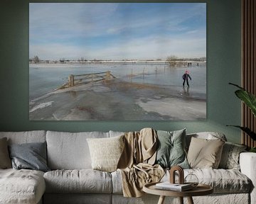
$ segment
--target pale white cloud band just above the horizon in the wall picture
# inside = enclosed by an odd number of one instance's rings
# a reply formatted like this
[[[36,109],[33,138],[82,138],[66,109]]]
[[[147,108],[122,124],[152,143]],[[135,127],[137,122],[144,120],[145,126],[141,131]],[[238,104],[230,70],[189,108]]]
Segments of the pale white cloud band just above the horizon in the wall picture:
[[[151,36],[134,40],[117,40],[111,46],[99,49],[90,46],[74,46],[63,44],[31,45],[30,57],[38,55],[43,60],[59,60],[66,58],[77,60],[85,57],[87,60],[123,60],[123,59],[166,59],[169,55],[177,57],[205,57],[206,38],[170,39],[168,36]]]

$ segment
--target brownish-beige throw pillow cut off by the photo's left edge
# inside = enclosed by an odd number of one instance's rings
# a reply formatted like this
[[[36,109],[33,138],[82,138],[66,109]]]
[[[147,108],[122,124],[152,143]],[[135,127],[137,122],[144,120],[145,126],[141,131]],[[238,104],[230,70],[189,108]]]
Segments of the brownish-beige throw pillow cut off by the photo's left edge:
[[[0,139],[0,169],[11,168],[11,159],[9,157],[6,137]]]

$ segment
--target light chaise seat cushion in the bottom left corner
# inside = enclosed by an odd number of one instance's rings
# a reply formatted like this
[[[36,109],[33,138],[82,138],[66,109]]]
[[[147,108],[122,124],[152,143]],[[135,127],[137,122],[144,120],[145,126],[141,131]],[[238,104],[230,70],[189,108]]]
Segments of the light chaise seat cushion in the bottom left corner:
[[[38,203],[45,190],[43,171],[0,169],[0,203]]]

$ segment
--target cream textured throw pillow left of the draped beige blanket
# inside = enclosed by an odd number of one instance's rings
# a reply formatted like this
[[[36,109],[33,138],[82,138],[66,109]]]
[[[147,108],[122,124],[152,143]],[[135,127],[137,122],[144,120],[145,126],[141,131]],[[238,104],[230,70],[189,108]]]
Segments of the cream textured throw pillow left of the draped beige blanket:
[[[88,138],[92,169],[112,172],[124,150],[124,135],[110,138]]]

